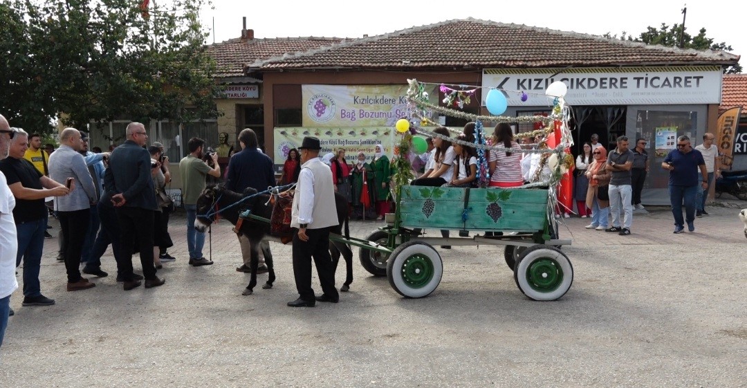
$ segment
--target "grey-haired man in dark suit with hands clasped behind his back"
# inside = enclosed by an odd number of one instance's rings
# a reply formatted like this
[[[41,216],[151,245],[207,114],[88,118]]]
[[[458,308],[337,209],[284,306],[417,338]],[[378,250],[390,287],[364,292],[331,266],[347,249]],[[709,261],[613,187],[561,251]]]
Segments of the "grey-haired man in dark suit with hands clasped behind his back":
[[[165,279],[155,276],[153,265],[153,212],[156,209],[155,188],[151,178],[150,154],[143,146],[148,140],[145,126],[130,123],[127,141],[114,149],[109,157],[109,168],[104,175],[107,194],[117,208],[122,233],[122,259],[120,277],[125,291],[140,286],[132,272],[132,248],[135,235],[140,247],[140,264],[143,265],[145,288],[161,286]]]

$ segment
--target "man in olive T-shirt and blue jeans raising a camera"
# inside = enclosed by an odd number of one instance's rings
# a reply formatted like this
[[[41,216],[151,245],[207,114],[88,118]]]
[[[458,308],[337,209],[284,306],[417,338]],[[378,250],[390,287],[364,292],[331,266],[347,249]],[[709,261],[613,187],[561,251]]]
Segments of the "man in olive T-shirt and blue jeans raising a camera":
[[[182,175],[182,203],[187,211],[187,248],[189,249],[189,264],[211,265],[211,260],[202,256],[202,246],[205,244],[205,233],[194,229],[197,218],[197,198],[205,190],[207,176],[220,177],[220,165],[217,153],[204,153],[205,141],[191,138],[187,141],[189,155],[179,161],[179,172]],[[213,167],[208,166],[207,160],[212,161]]]

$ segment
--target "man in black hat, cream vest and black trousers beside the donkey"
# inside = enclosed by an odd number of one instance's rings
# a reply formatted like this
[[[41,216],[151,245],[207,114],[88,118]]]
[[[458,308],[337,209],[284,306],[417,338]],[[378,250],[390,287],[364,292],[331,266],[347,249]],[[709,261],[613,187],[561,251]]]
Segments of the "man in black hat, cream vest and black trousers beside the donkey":
[[[288,302],[290,307],[314,307],[316,301],[337,303],[335,270],[329,256],[329,227],[338,225],[335,188],[332,170],[319,159],[321,144],[318,138],[303,138],[298,147],[301,153],[301,173],[291,212],[293,235],[293,273],[299,298]],[[323,295],[315,297],[311,289],[311,257]]]

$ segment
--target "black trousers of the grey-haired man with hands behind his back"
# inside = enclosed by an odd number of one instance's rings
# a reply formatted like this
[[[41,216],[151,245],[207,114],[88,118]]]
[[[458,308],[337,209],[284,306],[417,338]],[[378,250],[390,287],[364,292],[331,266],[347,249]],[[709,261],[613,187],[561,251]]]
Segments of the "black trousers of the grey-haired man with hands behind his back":
[[[119,264],[120,275],[125,280],[132,280],[132,252],[134,241],[140,249],[140,264],[143,265],[143,277],[146,280],[155,279],[155,265],[153,265],[153,210],[119,207],[117,219],[120,221],[122,233],[122,262]]]

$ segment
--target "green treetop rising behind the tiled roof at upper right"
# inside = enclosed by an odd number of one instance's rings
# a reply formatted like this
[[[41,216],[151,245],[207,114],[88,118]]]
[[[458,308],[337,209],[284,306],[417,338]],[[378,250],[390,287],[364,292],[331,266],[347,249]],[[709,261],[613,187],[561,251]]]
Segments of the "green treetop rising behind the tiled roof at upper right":
[[[684,32],[684,34],[683,34]],[[609,32],[604,34],[604,37],[611,39],[630,40],[633,42],[640,42],[651,45],[661,45],[669,47],[680,47],[681,49],[695,49],[695,50],[722,50],[730,52],[731,46],[725,42],[713,43],[713,38],[706,37],[705,28],[698,30],[698,34],[692,36],[687,33],[687,28],[682,28],[682,25],[675,23],[671,27],[666,23],[661,23],[659,28],[648,26],[646,31],[643,31],[638,37],[627,34],[622,31],[618,36],[617,34],[612,35]],[[729,66],[724,68],[724,73],[742,73],[742,67],[740,64],[736,66]]]

